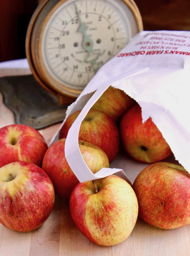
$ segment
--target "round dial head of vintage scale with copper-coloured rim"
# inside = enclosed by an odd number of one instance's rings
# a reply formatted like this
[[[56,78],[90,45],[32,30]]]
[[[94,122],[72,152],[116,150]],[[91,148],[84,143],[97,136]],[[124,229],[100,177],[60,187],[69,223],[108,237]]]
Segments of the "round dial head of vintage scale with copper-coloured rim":
[[[52,105],[55,113],[49,115],[48,122],[42,118],[39,128],[62,121],[67,106],[75,101],[98,69],[142,29],[141,15],[132,0],[42,1],[29,23],[26,57],[37,81],[33,86],[40,84],[46,89],[43,97],[47,95],[46,105],[49,109]],[[37,108],[41,95],[35,95],[35,91],[39,90],[34,89],[31,97],[36,99]],[[52,97],[54,100],[49,101]],[[30,100],[27,102],[30,105]],[[46,114],[45,108],[41,110],[38,117]]]

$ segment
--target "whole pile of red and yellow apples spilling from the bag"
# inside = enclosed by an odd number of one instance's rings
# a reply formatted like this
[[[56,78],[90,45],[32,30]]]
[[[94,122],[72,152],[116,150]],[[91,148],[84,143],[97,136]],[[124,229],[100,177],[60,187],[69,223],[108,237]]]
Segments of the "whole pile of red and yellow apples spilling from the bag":
[[[67,118],[49,148],[32,127],[0,129],[0,222],[22,232],[41,226],[53,209],[55,191],[69,198],[75,225],[98,245],[124,241],[138,215],[159,228],[188,225],[190,175],[180,165],[161,162],[172,154],[169,145],[151,118],[142,123],[140,106],[122,90],[110,86],[82,121],[81,154],[93,173],[109,167],[120,147],[150,165],[132,187],[116,175],[79,183],[64,154],[65,138],[79,113]]]

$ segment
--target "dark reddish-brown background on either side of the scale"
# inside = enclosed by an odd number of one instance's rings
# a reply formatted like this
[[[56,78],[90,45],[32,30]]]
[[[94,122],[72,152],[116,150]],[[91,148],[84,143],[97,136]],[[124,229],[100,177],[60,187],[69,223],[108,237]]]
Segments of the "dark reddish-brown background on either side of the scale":
[[[38,2],[40,0],[0,0],[0,61],[26,57],[26,30]],[[190,30],[190,0],[135,2],[144,30]]]

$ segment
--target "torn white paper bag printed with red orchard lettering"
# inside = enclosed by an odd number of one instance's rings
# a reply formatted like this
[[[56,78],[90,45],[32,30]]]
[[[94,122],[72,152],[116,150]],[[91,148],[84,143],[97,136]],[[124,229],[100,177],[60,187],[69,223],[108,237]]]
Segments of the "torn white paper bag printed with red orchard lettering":
[[[65,141],[65,157],[80,182],[118,172],[125,176],[122,169],[117,169],[119,165],[112,169],[103,168],[93,174],[78,145],[82,120],[110,85],[123,90],[140,105],[143,122],[152,118],[175,159],[187,171],[190,170],[190,118],[185,111],[189,108],[189,68],[189,31],[142,31],[99,69],[77,100],[68,107],[65,118],[66,120],[69,115],[82,109]],[[58,139],[60,129],[52,142]],[[116,161],[112,166],[117,166],[117,163]]]

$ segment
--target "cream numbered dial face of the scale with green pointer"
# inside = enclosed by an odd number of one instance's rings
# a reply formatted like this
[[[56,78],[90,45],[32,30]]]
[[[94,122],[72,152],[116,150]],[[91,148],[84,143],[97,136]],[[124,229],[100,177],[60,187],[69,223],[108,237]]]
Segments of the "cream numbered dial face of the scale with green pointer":
[[[52,78],[59,91],[79,94],[98,69],[138,33],[135,23],[121,0],[58,2],[39,37],[40,61],[50,84]]]

